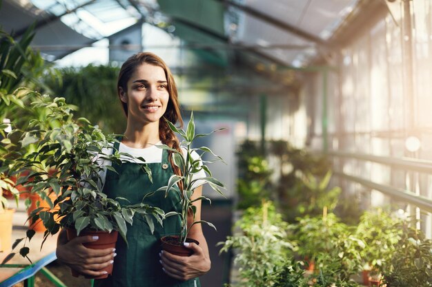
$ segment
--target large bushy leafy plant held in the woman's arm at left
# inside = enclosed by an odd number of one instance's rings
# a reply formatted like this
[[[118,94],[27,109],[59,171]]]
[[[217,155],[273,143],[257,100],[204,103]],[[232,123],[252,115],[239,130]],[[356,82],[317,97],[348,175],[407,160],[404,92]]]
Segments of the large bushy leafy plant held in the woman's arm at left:
[[[107,236],[115,244],[118,232],[126,242],[127,224],[132,224],[135,213],[148,215],[145,218],[150,231],[153,231],[154,222],[162,224],[164,211],[161,209],[143,203],[128,205],[124,198],[108,198],[102,193],[100,174],[104,168],[112,167],[104,167],[100,161],[121,164],[121,156],[130,157],[117,151],[112,154],[106,152],[118,140],[117,136],[104,135],[85,118],[74,120],[72,108],[64,98],[52,100],[48,96],[32,93],[37,100],[29,108],[50,110],[47,117],[52,125],[48,126],[38,118],[30,121],[29,129],[21,133],[21,145],[33,144],[33,151],[22,154],[10,169],[17,172],[28,170],[28,176],[21,178],[21,182],[27,182],[25,186],[31,187],[32,193],[37,193],[50,206],[49,209],[35,209],[29,217],[32,222],[40,219],[46,227],[43,242],[61,228],[67,228],[69,239],[95,232],[99,236],[98,243],[103,242],[103,236]],[[146,164],[142,164],[141,168],[148,171]],[[48,172],[50,170],[55,172]],[[150,173],[148,176],[151,178]],[[28,181],[28,178],[32,180]],[[54,202],[49,193],[57,195]],[[57,204],[59,209],[52,209]],[[28,233],[29,240],[33,234]],[[27,256],[28,252],[25,245],[20,250],[22,256]],[[104,277],[111,270],[112,265]]]

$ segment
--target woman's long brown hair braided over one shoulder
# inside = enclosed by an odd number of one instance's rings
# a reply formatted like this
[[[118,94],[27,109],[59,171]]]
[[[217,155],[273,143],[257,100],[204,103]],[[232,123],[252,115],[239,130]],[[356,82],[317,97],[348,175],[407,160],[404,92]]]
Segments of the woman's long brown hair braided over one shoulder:
[[[175,86],[175,81],[173,74],[171,74],[170,69],[159,56],[150,53],[150,52],[139,52],[137,54],[134,54],[129,57],[129,59],[124,62],[123,65],[121,65],[121,69],[119,72],[119,78],[117,80],[117,94],[120,96],[120,88],[123,89],[124,92],[128,92],[128,81],[130,77],[132,77],[132,74],[137,70],[137,68],[142,64],[150,64],[155,65],[158,67],[161,67],[164,69],[166,81],[167,83],[167,89],[168,94],[170,96],[168,100],[168,106],[166,107],[166,111],[164,114],[164,118],[166,120],[169,120],[171,123],[178,124],[179,127],[183,127],[183,119],[181,118],[180,113],[180,104],[178,100],[178,94],[177,94],[177,87]],[[121,105],[123,105],[124,113],[126,114],[126,117],[128,116],[128,104],[121,102]],[[179,139],[177,136],[175,136],[174,132],[171,131],[170,127],[168,126],[168,123],[166,123],[166,120],[164,118],[161,118],[159,120],[159,138],[161,139],[161,142],[164,145],[168,145],[168,147],[171,147],[173,149],[177,149],[177,151],[181,152]],[[181,175],[180,169],[173,164],[173,157],[171,156],[171,151],[169,152],[169,159],[171,166],[173,167],[174,173],[177,175]]]

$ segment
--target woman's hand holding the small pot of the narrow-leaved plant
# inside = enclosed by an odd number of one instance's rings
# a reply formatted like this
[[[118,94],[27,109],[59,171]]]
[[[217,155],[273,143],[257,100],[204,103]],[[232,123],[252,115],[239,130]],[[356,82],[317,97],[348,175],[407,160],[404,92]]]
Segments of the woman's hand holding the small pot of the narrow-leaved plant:
[[[210,270],[211,265],[210,259],[206,257],[199,245],[189,243],[186,247],[192,249],[193,255],[182,257],[168,253],[167,251],[159,253],[161,257],[160,263],[164,272],[170,275],[170,277],[181,281],[206,274]]]

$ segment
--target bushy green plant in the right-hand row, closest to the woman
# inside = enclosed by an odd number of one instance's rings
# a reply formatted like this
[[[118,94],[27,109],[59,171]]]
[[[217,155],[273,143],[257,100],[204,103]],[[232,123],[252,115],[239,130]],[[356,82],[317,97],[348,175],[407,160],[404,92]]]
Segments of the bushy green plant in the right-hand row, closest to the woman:
[[[290,263],[294,246],[287,240],[288,224],[275,211],[272,202],[264,201],[262,206],[246,209],[235,228],[238,231],[218,245],[222,245],[220,252],[234,249],[234,264],[238,265],[241,278],[239,286],[289,286],[282,285],[286,276],[284,270],[303,274]],[[299,280],[300,277],[296,276]],[[299,281],[293,284],[300,286]]]

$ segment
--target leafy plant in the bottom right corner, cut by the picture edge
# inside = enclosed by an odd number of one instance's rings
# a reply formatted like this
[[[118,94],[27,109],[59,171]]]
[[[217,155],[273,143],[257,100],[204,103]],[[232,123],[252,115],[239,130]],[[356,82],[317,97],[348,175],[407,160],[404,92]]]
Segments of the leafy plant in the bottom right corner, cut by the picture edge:
[[[402,231],[389,271],[384,281],[389,287],[432,286],[432,240],[421,231],[409,226],[409,222],[395,225]]]

